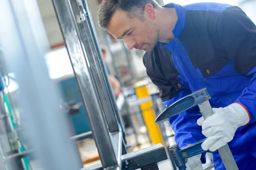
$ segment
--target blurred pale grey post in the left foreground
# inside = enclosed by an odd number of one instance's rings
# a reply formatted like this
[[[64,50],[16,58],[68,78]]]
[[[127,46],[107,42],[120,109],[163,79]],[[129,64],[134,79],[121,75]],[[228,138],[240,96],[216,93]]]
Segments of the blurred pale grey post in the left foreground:
[[[42,168],[79,169],[60,95],[44,61],[49,45],[37,1],[1,0],[0,15],[0,45],[19,85],[18,104],[26,113],[27,133]]]

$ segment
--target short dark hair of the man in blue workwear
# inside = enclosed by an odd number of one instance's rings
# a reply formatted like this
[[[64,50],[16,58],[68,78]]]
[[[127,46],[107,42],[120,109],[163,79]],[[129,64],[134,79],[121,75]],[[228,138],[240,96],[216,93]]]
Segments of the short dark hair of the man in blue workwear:
[[[160,8],[160,5],[155,0],[102,0],[98,11],[99,25],[101,28],[106,29],[117,9],[122,9],[129,17],[138,17],[143,20],[144,7],[148,3],[155,9]]]

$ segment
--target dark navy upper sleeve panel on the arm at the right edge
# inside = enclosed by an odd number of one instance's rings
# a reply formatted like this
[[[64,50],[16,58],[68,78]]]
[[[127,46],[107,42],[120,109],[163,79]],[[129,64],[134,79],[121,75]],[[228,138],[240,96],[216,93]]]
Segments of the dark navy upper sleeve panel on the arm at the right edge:
[[[256,25],[241,8],[234,7],[221,13],[217,29],[233,67],[247,75],[256,66]]]

